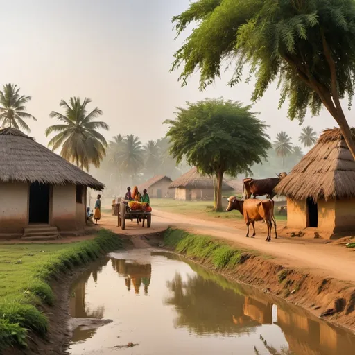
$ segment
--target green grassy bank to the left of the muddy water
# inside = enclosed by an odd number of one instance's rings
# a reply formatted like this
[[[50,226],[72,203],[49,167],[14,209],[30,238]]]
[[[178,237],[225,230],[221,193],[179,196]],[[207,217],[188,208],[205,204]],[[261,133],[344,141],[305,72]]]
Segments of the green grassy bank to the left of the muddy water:
[[[78,243],[0,245],[0,352],[26,346],[28,331],[46,334],[48,319],[36,306],[55,302],[51,279],[120,247],[107,230]]]

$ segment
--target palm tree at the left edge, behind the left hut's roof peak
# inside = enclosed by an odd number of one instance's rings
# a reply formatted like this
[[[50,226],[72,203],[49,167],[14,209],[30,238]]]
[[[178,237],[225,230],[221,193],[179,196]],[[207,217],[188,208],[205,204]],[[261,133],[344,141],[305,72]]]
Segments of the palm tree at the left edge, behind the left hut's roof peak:
[[[0,90],[0,121],[2,121],[2,127],[10,126],[30,132],[30,128],[24,119],[33,119],[37,121],[32,114],[28,114],[25,104],[31,100],[31,96],[24,96],[19,94],[19,88],[14,84],[3,85],[3,89]]]

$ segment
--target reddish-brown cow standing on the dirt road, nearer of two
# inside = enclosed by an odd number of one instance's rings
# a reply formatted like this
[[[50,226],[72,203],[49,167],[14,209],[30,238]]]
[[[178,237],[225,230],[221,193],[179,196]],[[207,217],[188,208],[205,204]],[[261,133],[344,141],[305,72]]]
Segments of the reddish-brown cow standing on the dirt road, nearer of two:
[[[275,238],[277,238],[276,230],[276,220],[274,216],[274,201],[272,200],[238,200],[236,196],[231,196],[228,198],[228,207],[227,211],[233,211],[234,209],[241,212],[244,217],[245,223],[247,225],[247,237],[249,237],[249,225],[252,223],[254,233],[252,236],[255,236],[255,222],[259,220],[265,220],[266,225],[268,226],[268,236],[265,241],[271,241],[271,230],[272,223],[275,226]]]

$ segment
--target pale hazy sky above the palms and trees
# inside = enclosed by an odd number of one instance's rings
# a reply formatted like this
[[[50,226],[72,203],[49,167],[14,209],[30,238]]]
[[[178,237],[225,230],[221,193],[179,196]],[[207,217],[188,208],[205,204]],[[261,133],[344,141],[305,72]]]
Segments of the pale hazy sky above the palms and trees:
[[[46,144],[44,130],[55,123],[49,112],[60,110],[60,100],[70,96],[92,98],[103,110],[107,139],[134,133],[144,142],[162,137],[162,121],[185,101],[224,96],[250,103],[252,85],[227,87],[228,73],[203,93],[198,75],[181,88],[179,73],[169,73],[181,44],[174,41],[171,17],[188,5],[189,0],[3,1],[0,83],[16,83],[32,96],[28,112],[38,122],[29,122],[31,135]],[[278,100],[272,87],[254,110],[271,126],[272,139],[286,130],[297,144],[301,128],[288,121],[286,106],[277,110]],[[354,125],[352,116],[347,114]],[[324,110],[305,124],[320,132],[335,121]]]

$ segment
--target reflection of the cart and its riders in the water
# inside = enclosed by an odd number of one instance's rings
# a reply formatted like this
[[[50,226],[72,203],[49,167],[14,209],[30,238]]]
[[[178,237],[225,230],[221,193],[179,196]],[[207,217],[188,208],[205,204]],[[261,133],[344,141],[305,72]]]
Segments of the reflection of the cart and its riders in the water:
[[[125,277],[125,286],[128,291],[131,289],[131,284],[135,288],[136,295],[139,294],[141,285],[144,286],[144,293],[148,293],[148,286],[152,275],[152,266],[150,263],[141,264],[137,262],[127,262],[124,259],[111,259],[112,268],[119,275]]]

